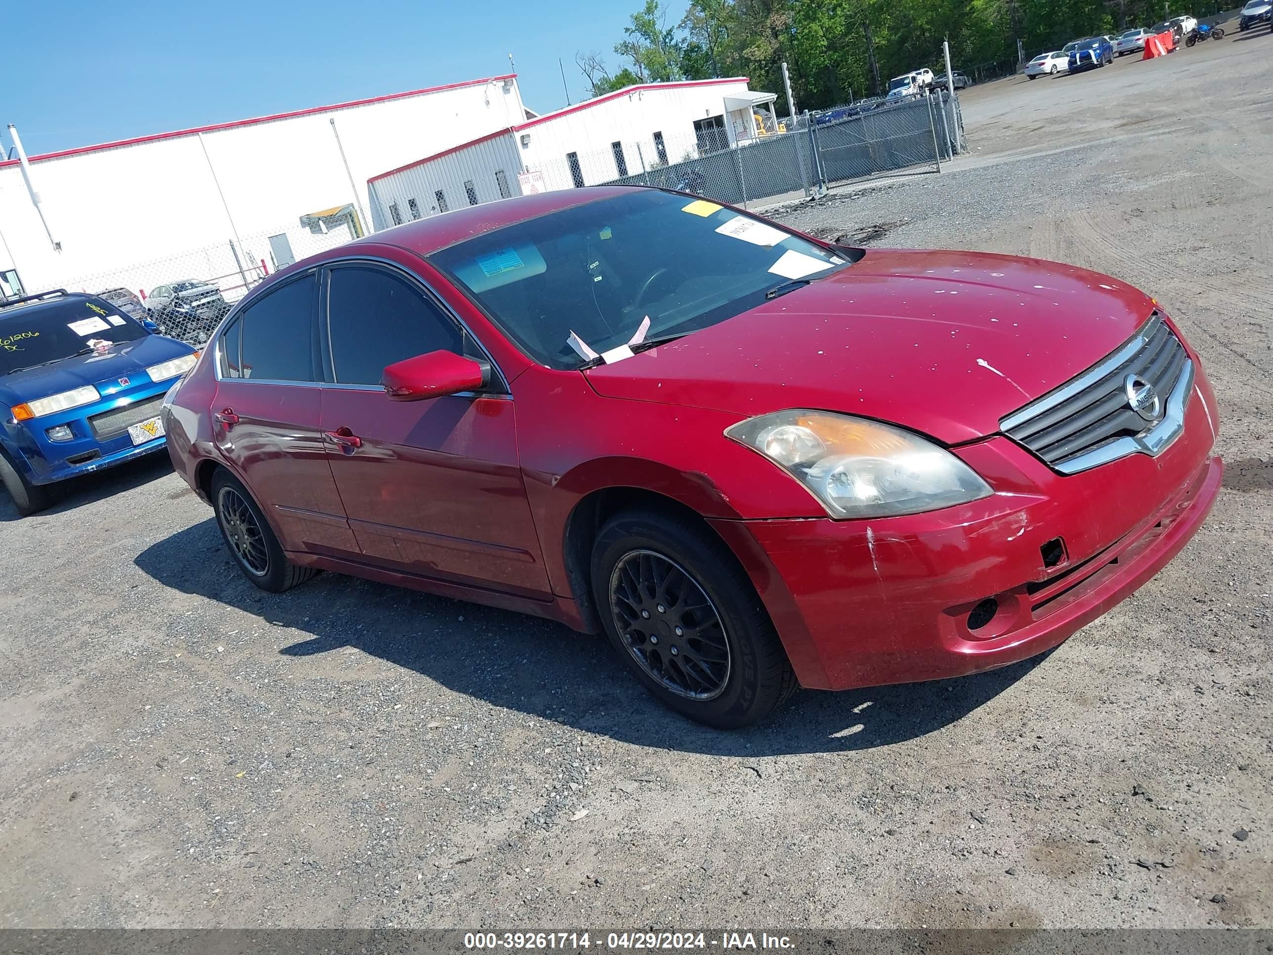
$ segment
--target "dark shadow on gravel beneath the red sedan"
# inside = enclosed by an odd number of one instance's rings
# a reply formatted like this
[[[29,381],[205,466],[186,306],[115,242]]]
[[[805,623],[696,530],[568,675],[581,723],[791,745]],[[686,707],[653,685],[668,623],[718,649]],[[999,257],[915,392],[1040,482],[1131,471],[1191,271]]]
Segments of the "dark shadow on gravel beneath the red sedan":
[[[281,647],[288,657],[354,648],[496,707],[622,742],[722,756],[913,740],[959,721],[1044,658],[959,680],[803,691],[759,727],[718,732],[648,697],[605,638],[560,624],[331,573],[286,593],[262,593],[230,563],[211,518],[151,545],[135,563],[167,587],[311,634]]]

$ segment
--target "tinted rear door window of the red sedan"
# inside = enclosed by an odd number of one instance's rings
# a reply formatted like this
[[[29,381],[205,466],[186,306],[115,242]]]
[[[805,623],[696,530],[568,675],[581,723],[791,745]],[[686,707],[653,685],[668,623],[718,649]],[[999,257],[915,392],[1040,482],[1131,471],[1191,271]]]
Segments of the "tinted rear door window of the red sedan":
[[[289,281],[248,306],[237,322],[241,374],[256,381],[316,381],[313,275]]]

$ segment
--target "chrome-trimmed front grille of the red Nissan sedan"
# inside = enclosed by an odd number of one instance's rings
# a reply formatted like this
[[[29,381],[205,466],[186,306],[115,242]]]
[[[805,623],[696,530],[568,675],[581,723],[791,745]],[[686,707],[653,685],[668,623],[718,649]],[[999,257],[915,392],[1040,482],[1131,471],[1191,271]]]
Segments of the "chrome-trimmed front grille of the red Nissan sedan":
[[[1184,345],[1155,312],[1109,358],[1013,411],[999,428],[1062,474],[1127,455],[1157,455],[1184,429],[1193,378]],[[1129,396],[1146,382],[1160,402],[1148,418]]]

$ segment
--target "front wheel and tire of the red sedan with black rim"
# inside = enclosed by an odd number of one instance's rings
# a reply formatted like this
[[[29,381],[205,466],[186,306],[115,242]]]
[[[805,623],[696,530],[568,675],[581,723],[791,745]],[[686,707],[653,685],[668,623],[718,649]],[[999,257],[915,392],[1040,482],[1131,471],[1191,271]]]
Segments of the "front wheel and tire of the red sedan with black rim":
[[[751,581],[707,527],[648,509],[612,517],[592,549],[592,593],[636,680],[695,722],[750,726],[798,686]]]

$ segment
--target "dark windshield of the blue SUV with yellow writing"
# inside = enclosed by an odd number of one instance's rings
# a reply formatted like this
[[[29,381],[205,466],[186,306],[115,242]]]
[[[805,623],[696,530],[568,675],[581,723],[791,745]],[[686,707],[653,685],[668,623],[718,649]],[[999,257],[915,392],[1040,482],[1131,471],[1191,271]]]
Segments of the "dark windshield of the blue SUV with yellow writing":
[[[132,341],[146,330],[113,306],[84,299],[32,302],[0,309],[0,376],[89,354],[89,343]]]

